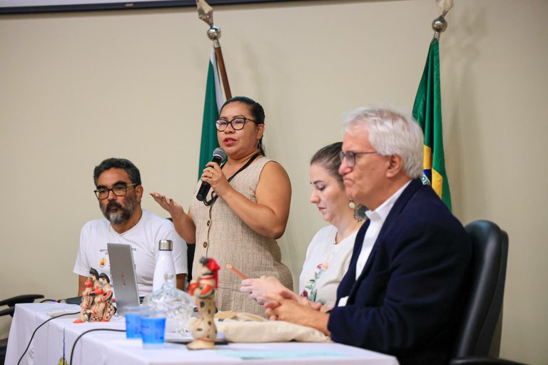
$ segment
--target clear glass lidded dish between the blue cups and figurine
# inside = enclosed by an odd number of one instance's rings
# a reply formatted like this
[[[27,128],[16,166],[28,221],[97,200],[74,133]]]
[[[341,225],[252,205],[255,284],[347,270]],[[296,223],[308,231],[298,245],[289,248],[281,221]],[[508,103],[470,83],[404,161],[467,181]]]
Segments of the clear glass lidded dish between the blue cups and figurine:
[[[143,299],[143,307],[166,314],[166,332],[182,332],[194,312],[194,301],[188,293],[175,287],[175,276],[166,274],[161,289]]]

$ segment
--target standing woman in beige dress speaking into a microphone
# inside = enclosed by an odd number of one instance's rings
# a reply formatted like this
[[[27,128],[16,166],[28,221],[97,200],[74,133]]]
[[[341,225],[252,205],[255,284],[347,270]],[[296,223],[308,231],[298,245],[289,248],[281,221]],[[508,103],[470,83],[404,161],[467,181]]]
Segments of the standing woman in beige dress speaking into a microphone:
[[[209,183],[205,200],[193,197],[185,212],[172,199],[157,192],[151,195],[170,213],[178,234],[186,242],[196,242],[195,263],[213,257],[222,268],[232,264],[249,277],[272,276],[293,288],[276,242],[288,222],[291,184],[284,168],[265,158],[263,107],[243,96],[231,98],[215,126],[227,160],[222,165],[210,162],[203,170],[196,191],[202,182]],[[193,276],[198,276],[198,267],[193,265]],[[239,291],[240,277],[226,269],[218,274],[218,310],[264,315],[260,304]]]

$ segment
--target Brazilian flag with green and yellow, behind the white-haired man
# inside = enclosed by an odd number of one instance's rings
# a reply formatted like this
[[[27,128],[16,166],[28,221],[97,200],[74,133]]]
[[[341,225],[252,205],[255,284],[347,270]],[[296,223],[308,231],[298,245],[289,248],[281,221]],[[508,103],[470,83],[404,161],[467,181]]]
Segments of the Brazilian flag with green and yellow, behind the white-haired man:
[[[436,38],[430,43],[425,71],[422,73],[413,104],[413,118],[425,133],[422,183],[432,185],[437,195],[451,210],[451,193],[443,153],[440,43]]]

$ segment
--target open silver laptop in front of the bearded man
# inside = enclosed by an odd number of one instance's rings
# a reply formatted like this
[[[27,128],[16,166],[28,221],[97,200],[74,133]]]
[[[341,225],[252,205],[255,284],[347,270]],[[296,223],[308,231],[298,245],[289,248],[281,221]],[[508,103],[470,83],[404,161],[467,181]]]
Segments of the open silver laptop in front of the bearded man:
[[[107,243],[108,257],[111,262],[111,278],[116,309],[123,316],[125,308],[139,305],[139,292],[133,251],[131,245]]]

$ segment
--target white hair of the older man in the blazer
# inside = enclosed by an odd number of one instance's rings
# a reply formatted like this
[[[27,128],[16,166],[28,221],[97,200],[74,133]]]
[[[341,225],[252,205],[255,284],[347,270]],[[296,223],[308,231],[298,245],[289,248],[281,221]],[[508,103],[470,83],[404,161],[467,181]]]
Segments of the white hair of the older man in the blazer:
[[[342,125],[366,128],[369,143],[380,155],[399,155],[410,178],[422,176],[424,135],[420,125],[407,113],[386,106],[357,108],[346,113]]]

